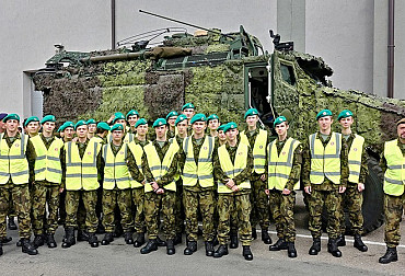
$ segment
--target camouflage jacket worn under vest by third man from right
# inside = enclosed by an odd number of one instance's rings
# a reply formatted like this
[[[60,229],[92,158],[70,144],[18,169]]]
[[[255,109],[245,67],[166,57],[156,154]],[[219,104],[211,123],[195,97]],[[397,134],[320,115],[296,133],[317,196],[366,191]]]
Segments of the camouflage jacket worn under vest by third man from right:
[[[317,131],[316,139],[321,139],[321,142],[324,147],[329,142],[332,137],[332,131],[326,140],[321,138],[321,133]],[[344,139],[344,138],[342,138]],[[302,168],[302,181],[304,186],[311,186],[316,191],[335,191],[338,189],[338,186],[347,186],[347,179],[349,177],[349,165],[348,165],[348,151],[346,142],[342,142],[342,150],[340,150],[340,184],[335,185],[332,181],[325,177],[322,184],[311,185],[310,181],[310,173],[311,173],[311,148],[310,148],[310,140],[306,139],[303,146],[303,168]]]

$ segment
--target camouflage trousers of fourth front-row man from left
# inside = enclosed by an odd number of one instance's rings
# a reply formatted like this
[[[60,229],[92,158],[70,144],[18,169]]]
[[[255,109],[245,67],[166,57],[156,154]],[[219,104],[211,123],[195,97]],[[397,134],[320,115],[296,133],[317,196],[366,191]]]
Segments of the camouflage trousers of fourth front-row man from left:
[[[131,214],[131,192],[132,191],[130,188],[103,191],[103,225],[105,228],[105,232],[114,232],[114,209],[117,205],[121,217],[120,223],[123,226],[124,232],[131,231],[134,227]]]

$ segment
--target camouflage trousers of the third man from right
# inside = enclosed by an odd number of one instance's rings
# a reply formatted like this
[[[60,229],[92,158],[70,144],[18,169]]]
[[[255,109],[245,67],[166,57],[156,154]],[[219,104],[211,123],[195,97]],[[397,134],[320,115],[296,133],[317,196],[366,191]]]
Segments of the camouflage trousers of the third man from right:
[[[326,232],[329,238],[336,239],[340,233],[340,202],[338,191],[316,191],[312,188],[309,197],[310,222],[309,229],[313,238],[322,235],[322,211],[326,208]]]

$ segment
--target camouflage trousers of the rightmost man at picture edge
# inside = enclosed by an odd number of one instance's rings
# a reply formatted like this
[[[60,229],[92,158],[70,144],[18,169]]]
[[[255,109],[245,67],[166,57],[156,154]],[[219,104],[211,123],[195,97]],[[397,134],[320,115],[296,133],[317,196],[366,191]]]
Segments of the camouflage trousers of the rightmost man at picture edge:
[[[400,223],[404,214],[405,193],[402,196],[384,195],[385,243],[387,248],[400,245]]]

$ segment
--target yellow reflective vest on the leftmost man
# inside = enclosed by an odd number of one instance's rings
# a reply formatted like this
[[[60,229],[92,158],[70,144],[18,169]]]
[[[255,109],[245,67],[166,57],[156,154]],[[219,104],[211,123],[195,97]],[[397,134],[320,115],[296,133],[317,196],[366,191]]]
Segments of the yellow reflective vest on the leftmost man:
[[[0,184],[9,182],[10,177],[14,184],[26,184],[30,181],[30,168],[26,160],[26,145],[28,137],[21,134],[9,148],[4,135],[0,136]]]

